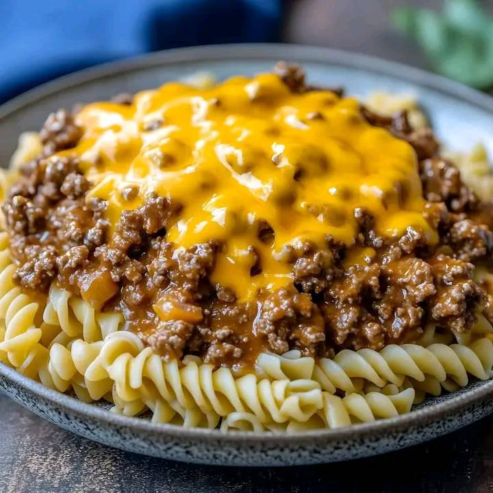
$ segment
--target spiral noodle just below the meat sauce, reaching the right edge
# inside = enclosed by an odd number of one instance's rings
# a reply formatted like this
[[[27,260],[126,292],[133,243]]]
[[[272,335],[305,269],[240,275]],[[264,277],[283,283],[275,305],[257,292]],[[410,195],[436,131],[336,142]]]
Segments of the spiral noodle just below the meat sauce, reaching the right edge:
[[[301,357],[299,351],[290,351],[283,356],[261,355],[257,364],[262,372],[275,378],[307,376],[312,371],[311,377],[329,394],[356,392],[364,384],[373,388],[402,386],[405,379],[416,383],[420,390],[427,385],[431,389],[431,382],[453,390],[465,387],[468,375],[481,380],[492,377],[493,344],[488,338],[477,339],[469,346],[434,343],[425,348],[418,344],[391,344],[381,351],[343,350],[333,359],[322,358],[316,364],[312,358]],[[429,393],[437,395],[436,384]]]

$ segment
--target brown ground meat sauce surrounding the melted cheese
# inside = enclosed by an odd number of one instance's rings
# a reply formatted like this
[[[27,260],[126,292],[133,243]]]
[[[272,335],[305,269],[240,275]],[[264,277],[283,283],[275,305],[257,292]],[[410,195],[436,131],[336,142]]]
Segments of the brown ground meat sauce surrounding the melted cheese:
[[[293,92],[309,90],[299,68],[279,64],[277,73]],[[128,101],[125,95],[120,102]],[[150,196],[125,211],[108,234],[106,204],[86,200],[91,184],[77,158],[54,155],[81,136],[72,116],[60,110],[40,132],[43,154],[25,165],[3,205],[14,279],[37,292],[58,281],[97,309],[121,311],[127,329],[164,359],[199,355],[216,366],[249,366],[264,350],[322,357],[344,348],[381,349],[416,340],[429,322],[468,331],[477,311],[488,318],[492,313],[472,280],[473,264],[491,259],[491,205],[438,155],[430,129],[413,129],[405,112],[389,118],[362,107],[362,114],[414,147],[428,201],[425,217],[438,231],[438,244],[412,227],[402,238],[383,240],[372,216],[359,208],[351,246],[327,237],[324,249],[309,242],[287,249],[292,284],[260,292],[256,303],[237,303],[234,292],[210,280],[220,244],[184,249],[166,240],[179,204]],[[268,242],[272,233],[265,224],[258,234]],[[372,255],[347,266],[354,249]]]

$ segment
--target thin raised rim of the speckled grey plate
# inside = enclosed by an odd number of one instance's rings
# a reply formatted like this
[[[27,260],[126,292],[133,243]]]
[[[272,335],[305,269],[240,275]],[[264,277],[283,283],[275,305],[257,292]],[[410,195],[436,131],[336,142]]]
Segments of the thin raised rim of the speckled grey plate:
[[[475,89],[468,88],[463,84],[446,79],[445,77],[423,71],[420,68],[382,60],[381,58],[370,55],[323,47],[250,43],[169,49],[86,68],[82,71],[77,71],[73,74],[49,81],[3,103],[0,106],[0,120],[16,112],[25,110],[30,104],[49,97],[60,90],[84,86],[88,82],[104,79],[105,77],[113,77],[118,74],[122,75],[135,71],[138,68],[176,65],[193,61],[220,62],[230,58],[240,62],[242,60],[287,59],[292,62],[325,63],[357,68],[379,75],[396,77],[401,81],[407,81],[418,87],[441,92],[453,99],[460,99],[482,110],[493,112],[493,97],[482,94]],[[306,442],[310,442],[311,444],[329,443],[355,437],[363,438],[366,435],[374,433],[384,437],[385,433],[404,430],[412,426],[422,427],[429,422],[438,421],[448,414],[456,414],[462,409],[466,409],[476,403],[481,403],[481,401],[493,396],[493,380],[490,380],[479,384],[477,388],[472,388],[464,391],[462,394],[452,396],[446,401],[431,403],[426,407],[415,409],[412,412],[394,418],[385,418],[374,422],[352,425],[351,427],[307,430],[295,434],[278,434],[264,431],[233,431],[223,433],[219,429],[184,428],[179,425],[157,424],[142,418],[115,414],[107,409],[90,403],[84,403],[73,396],[62,394],[57,390],[45,387],[42,383],[25,377],[25,375],[16,372],[14,368],[10,368],[3,363],[0,363],[0,376],[10,381],[10,383],[15,383],[21,388],[36,394],[36,396],[42,399],[47,399],[51,403],[70,409],[79,415],[87,416],[99,422],[105,422],[107,425],[131,427],[136,431],[142,431],[144,433],[160,433],[162,435],[169,435],[170,437],[187,438],[189,440],[220,440],[230,444],[240,442],[255,442],[260,444],[268,440],[272,444],[279,444],[279,446],[286,446],[287,444],[293,443],[302,445]]]

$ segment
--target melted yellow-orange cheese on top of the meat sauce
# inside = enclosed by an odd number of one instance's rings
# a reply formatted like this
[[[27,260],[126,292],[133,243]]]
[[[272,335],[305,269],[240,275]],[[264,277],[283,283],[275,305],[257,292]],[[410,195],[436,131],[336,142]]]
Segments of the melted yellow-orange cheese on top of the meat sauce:
[[[84,135],[67,152],[94,184],[87,199],[108,201],[114,227],[151,192],[169,197],[181,209],[167,239],[178,247],[218,241],[212,281],[239,301],[290,283],[286,245],[324,247],[328,234],[351,244],[355,207],[375,216],[382,236],[412,225],[433,241],[412,147],[366,123],[355,99],[294,94],[262,74],[208,89],[165,84],[132,105],[87,105],[77,123]],[[271,241],[258,238],[264,224]]]

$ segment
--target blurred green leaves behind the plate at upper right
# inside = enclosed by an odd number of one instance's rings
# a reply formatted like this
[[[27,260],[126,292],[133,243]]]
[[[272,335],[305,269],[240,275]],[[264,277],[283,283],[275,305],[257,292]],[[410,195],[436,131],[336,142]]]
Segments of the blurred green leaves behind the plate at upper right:
[[[392,23],[418,42],[433,71],[478,89],[493,88],[493,17],[475,0],[446,0],[439,14],[399,8]]]

